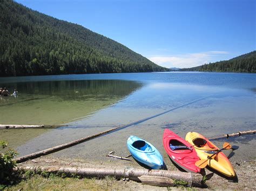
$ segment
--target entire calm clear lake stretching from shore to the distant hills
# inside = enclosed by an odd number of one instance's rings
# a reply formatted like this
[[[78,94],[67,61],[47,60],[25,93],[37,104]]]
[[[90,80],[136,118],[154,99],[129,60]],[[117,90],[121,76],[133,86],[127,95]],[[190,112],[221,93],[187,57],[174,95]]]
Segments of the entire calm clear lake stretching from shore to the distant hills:
[[[253,130],[256,126],[256,74],[166,72],[0,77],[1,86],[8,87],[11,93],[14,89],[19,91],[16,98],[2,98],[1,124],[68,125],[50,130],[1,130],[0,140],[8,140],[19,156],[151,116],[147,121],[52,156],[102,161],[110,151],[127,155],[126,140],[136,135],[155,145],[167,160],[161,139],[165,128],[181,137],[188,131],[214,137]],[[168,110],[171,111],[154,117]],[[221,146],[224,140],[214,143]],[[248,153],[256,146],[255,135],[228,140],[240,146],[235,157],[255,159],[255,153]]]

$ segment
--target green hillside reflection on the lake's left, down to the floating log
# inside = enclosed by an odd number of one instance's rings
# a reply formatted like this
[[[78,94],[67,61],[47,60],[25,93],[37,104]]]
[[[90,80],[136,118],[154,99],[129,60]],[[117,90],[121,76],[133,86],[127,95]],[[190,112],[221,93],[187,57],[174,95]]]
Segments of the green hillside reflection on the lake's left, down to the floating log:
[[[1,85],[1,84],[0,84]],[[3,124],[60,124],[122,100],[142,83],[125,80],[9,83],[19,96],[2,99]]]

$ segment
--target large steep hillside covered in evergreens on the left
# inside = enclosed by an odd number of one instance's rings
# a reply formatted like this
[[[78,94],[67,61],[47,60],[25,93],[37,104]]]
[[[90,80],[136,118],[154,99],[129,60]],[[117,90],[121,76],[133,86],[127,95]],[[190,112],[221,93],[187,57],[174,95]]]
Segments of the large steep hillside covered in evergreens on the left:
[[[0,0],[0,76],[168,70],[85,27]]]

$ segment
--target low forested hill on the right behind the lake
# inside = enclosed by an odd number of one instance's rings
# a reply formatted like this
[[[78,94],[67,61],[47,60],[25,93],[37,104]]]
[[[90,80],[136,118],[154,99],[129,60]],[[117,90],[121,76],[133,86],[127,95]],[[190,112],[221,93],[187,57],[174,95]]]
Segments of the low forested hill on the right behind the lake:
[[[183,68],[180,71],[256,73],[256,51],[240,55],[230,60],[208,63],[193,68]]]

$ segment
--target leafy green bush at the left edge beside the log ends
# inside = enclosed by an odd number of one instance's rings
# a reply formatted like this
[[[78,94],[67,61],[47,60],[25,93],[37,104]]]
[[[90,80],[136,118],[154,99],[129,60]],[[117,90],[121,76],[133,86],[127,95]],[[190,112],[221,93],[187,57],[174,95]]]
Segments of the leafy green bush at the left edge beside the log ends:
[[[4,149],[8,144],[4,141],[0,142],[0,146]],[[15,161],[13,160],[17,153],[12,150],[1,151],[0,153],[0,187],[6,185],[12,185],[15,182],[17,174],[13,171],[16,167]],[[1,188],[0,188],[1,190]]]

